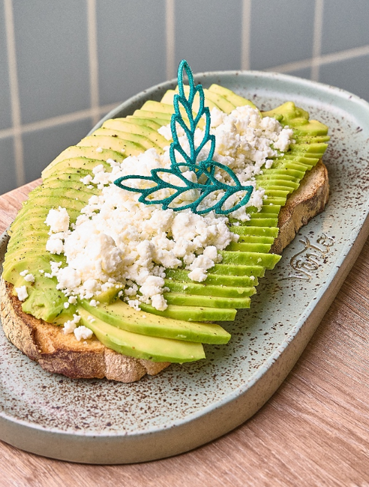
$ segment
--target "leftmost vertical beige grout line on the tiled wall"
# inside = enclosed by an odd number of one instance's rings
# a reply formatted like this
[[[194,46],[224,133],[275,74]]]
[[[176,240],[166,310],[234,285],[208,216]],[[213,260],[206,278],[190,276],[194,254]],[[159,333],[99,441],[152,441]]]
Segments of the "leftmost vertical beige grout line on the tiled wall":
[[[26,182],[24,173],[24,150],[21,139],[21,107],[17,74],[17,55],[15,51],[15,28],[12,0],[4,0],[4,21],[6,29],[6,47],[8,53],[8,70],[10,85],[10,104],[12,109],[12,135],[15,152],[15,176],[17,185]]]

